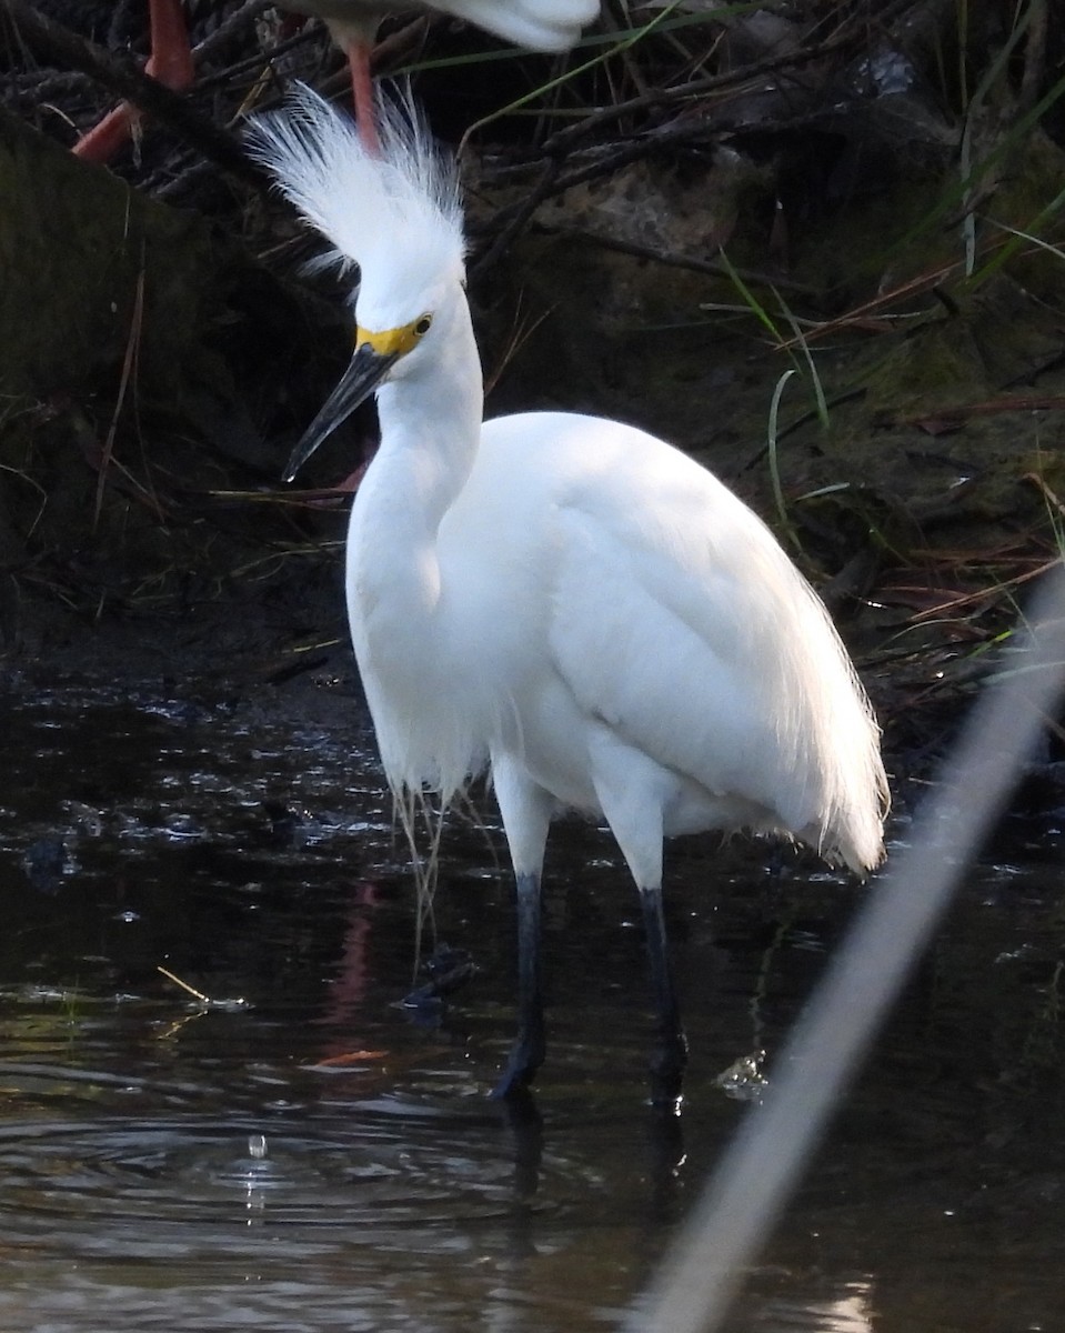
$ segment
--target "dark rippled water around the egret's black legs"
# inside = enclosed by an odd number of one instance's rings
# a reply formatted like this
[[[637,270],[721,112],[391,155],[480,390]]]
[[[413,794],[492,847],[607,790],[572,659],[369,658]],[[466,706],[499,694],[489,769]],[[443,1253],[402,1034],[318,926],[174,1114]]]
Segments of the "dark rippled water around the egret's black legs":
[[[0,738],[5,1333],[613,1326],[862,893],[672,849],[692,1069],[662,1125],[633,890],[558,828],[517,1120],[485,1100],[513,1020],[495,814],[451,822],[437,894],[479,972],[404,1009],[412,874],[357,702],[16,684]],[[1061,846],[1018,822],[970,876],[733,1329],[1065,1329]]]

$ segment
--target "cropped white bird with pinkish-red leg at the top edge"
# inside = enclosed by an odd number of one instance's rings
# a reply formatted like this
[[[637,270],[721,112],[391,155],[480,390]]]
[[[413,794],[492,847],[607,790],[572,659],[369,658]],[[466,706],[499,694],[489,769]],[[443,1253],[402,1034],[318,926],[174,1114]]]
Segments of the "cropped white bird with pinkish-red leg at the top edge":
[[[377,151],[369,71],[377,29],[397,8],[436,9],[528,51],[569,51],[593,23],[600,0],[280,0],[284,9],[317,15],[348,57],[363,141]]]

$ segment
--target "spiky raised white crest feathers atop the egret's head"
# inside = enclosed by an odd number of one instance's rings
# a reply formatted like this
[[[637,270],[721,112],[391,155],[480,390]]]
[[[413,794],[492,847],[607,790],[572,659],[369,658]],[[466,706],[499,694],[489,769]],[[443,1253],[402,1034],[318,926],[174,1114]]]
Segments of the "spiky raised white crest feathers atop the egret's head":
[[[409,96],[379,103],[380,156],[355,121],[300,85],[289,108],[251,123],[248,148],[281,192],[360,269],[400,257],[463,272],[463,204],[453,161],[433,144]]]

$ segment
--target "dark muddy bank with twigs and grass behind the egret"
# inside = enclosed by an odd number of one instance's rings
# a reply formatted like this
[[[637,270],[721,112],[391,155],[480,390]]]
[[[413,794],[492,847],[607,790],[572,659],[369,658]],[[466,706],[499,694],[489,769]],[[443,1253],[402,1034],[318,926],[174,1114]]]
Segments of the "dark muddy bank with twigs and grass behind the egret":
[[[925,754],[1057,556],[1061,33],[1037,4],[965,32],[929,3],[876,32],[813,11],[608,16],[556,65],[397,23],[380,63],[460,149],[487,411],[616,416],[712,467],[830,601],[889,748]],[[185,101],[239,153],[240,107],[337,57],[236,17],[193,31]],[[125,23],[79,37],[144,51]],[[320,492],[277,480],[347,360],[349,280],[308,277],[291,213],[165,104],[111,168],[72,157],[113,89],[4,33],[4,661],[349,677],[372,416]]]

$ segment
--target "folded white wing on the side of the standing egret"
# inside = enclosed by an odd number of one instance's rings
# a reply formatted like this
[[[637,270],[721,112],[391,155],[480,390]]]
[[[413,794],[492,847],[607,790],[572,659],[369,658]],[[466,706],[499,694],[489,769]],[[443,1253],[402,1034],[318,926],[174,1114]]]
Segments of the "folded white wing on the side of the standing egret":
[[[816,818],[850,669],[764,524],[657,441],[573,484],[556,524],[549,647],[585,713],[709,792]]]

